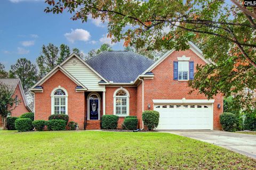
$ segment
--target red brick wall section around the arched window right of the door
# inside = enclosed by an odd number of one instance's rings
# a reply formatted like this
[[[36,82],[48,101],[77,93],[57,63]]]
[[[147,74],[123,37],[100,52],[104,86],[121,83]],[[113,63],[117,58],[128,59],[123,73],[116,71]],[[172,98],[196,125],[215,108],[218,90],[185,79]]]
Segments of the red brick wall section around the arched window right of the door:
[[[114,92],[120,87],[106,87],[106,115],[114,114]],[[137,114],[137,88],[136,87],[124,87],[129,91],[130,94],[130,104],[129,113],[130,116],[136,116]],[[122,123],[124,121],[123,117],[119,117],[118,129],[122,128]]]

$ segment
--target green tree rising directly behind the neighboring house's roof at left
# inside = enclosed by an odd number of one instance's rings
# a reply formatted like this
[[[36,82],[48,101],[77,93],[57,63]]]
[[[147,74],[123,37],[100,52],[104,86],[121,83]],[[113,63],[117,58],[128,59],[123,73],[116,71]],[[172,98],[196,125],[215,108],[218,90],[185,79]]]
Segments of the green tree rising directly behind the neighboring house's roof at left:
[[[37,81],[36,65],[26,58],[19,58],[16,64],[11,65],[10,78],[19,78],[25,93]]]

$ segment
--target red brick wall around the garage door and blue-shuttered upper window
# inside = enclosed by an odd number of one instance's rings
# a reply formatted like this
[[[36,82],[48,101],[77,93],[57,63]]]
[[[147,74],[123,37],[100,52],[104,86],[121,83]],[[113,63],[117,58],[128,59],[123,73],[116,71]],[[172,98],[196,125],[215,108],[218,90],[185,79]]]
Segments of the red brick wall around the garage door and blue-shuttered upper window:
[[[205,64],[205,62],[190,49],[173,52],[161,64],[153,69],[152,72],[155,74],[154,79],[144,81],[145,110],[148,109],[148,104],[151,105],[150,109],[153,109],[153,99],[207,99],[203,94],[197,94],[197,91],[194,91],[189,95],[188,92],[191,88],[188,87],[187,81],[173,80],[173,61],[178,61],[177,57],[181,57],[182,55],[190,57],[190,61],[194,61],[194,70],[196,70],[197,64]],[[221,106],[223,106],[223,97],[221,95],[217,95],[214,99],[213,128],[220,129],[219,115],[223,111],[222,108],[218,109],[217,105],[221,104]]]

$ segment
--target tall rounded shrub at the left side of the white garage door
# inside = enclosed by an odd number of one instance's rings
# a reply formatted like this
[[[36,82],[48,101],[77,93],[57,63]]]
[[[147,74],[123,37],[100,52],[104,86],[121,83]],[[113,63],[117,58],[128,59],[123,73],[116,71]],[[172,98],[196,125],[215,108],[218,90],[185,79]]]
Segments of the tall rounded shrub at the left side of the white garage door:
[[[148,130],[154,130],[159,123],[159,112],[157,111],[144,111],[142,113],[143,123],[148,127]]]

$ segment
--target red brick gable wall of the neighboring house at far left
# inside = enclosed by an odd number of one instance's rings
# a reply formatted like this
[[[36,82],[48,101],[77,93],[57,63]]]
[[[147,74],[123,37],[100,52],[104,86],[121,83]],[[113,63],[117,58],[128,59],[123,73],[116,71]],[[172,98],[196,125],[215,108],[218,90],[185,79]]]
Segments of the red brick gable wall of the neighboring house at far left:
[[[19,117],[20,115],[22,115],[23,113],[28,113],[30,112],[27,107],[25,106],[24,100],[22,98],[21,92],[20,92],[20,87],[19,84],[17,85],[17,87],[14,90],[14,93],[12,95],[12,98],[15,98],[15,96],[18,96],[18,99],[20,101],[20,103],[18,104],[17,107],[15,107],[15,109],[12,111],[11,116],[12,117]]]

